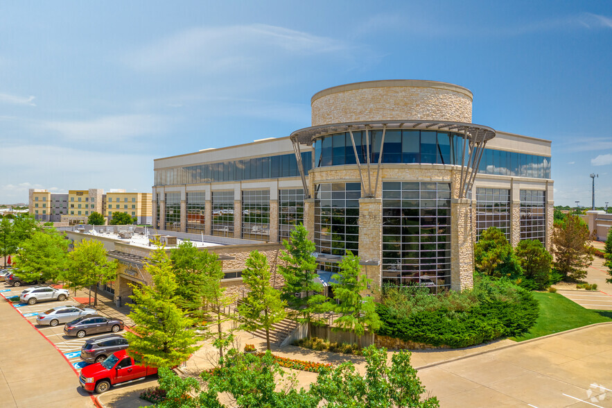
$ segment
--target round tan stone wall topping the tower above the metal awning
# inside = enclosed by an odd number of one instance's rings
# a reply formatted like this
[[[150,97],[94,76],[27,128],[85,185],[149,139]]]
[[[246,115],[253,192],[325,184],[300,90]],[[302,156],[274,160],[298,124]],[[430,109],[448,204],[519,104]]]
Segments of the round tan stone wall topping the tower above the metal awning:
[[[471,92],[451,84],[410,83],[416,86],[381,87],[374,83],[371,87],[347,89],[346,85],[338,87],[339,92],[317,94],[311,103],[312,126],[385,119],[471,123]]]

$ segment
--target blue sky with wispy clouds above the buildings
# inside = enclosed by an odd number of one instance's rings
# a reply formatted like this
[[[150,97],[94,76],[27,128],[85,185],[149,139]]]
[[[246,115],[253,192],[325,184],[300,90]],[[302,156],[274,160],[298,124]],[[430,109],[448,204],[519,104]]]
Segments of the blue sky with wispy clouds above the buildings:
[[[311,96],[422,79],[552,140],[557,205],[612,203],[612,1],[5,1],[0,203],[150,192],[153,160],[288,136]]]

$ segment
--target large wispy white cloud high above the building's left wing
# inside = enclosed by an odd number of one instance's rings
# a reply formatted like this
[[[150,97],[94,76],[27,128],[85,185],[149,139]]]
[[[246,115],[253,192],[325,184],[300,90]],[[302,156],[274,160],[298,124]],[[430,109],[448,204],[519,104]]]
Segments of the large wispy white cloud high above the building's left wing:
[[[329,37],[266,24],[190,28],[127,57],[142,70],[196,68],[204,73],[253,69],[282,53],[306,57],[337,53],[349,45]]]

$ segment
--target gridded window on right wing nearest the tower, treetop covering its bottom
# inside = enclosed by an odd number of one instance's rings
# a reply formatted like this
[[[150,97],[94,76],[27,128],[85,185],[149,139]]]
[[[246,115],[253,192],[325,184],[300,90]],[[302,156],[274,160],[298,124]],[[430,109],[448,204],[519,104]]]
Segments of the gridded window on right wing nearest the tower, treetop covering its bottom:
[[[476,189],[476,241],[489,227],[499,228],[510,241],[509,189]]]

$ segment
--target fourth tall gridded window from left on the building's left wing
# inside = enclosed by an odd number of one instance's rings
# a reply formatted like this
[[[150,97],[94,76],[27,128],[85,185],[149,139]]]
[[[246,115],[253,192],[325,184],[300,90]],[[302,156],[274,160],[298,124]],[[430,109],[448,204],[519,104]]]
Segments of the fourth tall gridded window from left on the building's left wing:
[[[243,191],[243,231],[245,239],[270,239],[270,190]]]

